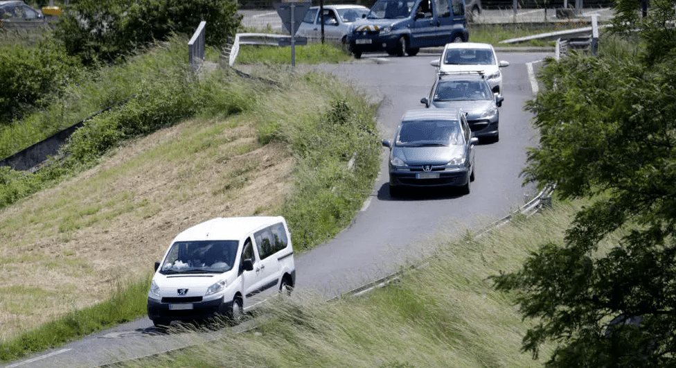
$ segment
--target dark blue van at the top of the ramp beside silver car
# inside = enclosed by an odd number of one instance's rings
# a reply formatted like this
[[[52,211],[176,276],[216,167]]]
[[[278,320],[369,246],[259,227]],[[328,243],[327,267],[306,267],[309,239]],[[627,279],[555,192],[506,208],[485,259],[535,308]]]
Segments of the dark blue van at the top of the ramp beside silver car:
[[[377,0],[348,34],[355,58],[362,53],[416,55],[421,47],[467,42],[464,0]]]

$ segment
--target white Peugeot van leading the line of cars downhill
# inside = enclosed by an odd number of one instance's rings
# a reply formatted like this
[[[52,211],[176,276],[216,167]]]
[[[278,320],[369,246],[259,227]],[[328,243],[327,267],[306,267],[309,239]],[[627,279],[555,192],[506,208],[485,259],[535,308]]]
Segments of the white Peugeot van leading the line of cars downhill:
[[[155,326],[172,321],[242,313],[278,292],[291,292],[296,265],[291,235],[281,216],[214,218],[174,240],[148,292]]]

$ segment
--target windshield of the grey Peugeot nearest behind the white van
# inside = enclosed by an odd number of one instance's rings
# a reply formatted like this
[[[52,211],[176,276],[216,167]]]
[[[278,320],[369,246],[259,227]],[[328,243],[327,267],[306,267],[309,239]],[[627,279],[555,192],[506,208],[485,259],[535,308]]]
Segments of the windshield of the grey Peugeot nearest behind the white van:
[[[397,146],[429,147],[462,145],[457,121],[404,121]]]

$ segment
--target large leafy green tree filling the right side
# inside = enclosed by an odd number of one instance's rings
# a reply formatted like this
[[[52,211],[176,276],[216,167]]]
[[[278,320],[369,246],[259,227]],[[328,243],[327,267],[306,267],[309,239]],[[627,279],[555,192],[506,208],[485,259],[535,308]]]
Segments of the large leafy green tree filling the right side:
[[[547,367],[676,366],[676,30],[662,21],[666,3],[641,19],[638,1],[620,0],[616,32],[638,30],[639,58],[549,59],[545,91],[526,104],[540,130],[526,182],[591,202],[561,243],[492,278],[536,321],[522,349],[537,357],[544,342],[557,345]]]

